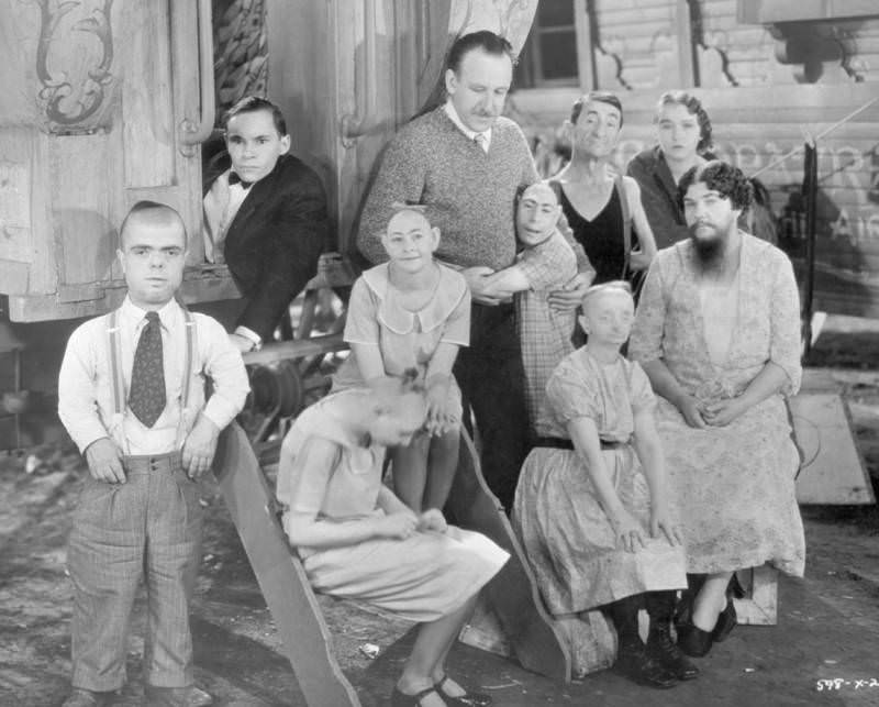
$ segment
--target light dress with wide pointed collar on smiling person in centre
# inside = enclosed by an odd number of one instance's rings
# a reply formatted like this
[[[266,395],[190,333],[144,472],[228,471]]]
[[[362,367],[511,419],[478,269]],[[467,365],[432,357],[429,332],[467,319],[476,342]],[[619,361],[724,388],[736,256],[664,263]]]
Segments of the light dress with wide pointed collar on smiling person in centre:
[[[433,298],[419,311],[409,311],[400,302],[398,290],[388,278],[389,263],[365,270],[354,283],[348,301],[344,340],[348,343],[377,344],[385,373],[402,375],[415,368],[423,382],[436,347],[443,343],[467,346],[470,343],[470,290],[464,276],[436,263],[439,279]],[[360,387],[363,375],[354,352],[333,378],[333,390]],[[460,389],[452,377],[448,410],[460,421]]]

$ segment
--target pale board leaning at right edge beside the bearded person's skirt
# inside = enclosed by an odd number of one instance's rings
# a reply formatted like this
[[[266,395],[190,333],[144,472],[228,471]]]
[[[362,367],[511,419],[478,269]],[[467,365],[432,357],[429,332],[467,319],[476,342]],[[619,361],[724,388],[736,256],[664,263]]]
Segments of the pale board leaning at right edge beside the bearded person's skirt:
[[[793,431],[803,462],[797,476],[800,504],[875,504],[864,456],[852,432],[852,415],[837,391],[801,391],[790,399]]]

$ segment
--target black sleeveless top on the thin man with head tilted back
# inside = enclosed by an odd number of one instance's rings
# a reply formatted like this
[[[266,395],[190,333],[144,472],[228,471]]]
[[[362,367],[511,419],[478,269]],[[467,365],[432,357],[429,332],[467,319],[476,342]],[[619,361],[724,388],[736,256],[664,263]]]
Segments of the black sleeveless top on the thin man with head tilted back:
[[[574,237],[583,246],[592,267],[596,268],[596,285],[619,280],[625,264],[623,243],[623,209],[616,185],[611,190],[608,203],[591,221],[585,219],[568,200],[565,190],[558,189],[559,201]],[[633,247],[635,246],[633,233]]]

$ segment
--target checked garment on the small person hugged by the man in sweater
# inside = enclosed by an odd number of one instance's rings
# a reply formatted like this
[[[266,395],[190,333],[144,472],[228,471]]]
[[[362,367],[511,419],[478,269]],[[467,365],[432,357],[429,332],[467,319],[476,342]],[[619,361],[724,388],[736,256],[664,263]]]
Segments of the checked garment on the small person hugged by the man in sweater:
[[[577,256],[558,231],[543,243],[522,251],[516,262],[530,289],[515,295],[515,327],[525,369],[528,422],[536,429],[546,382],[559,362],[574,351],[575,310],[556,312],[547,297],[577,275]]]

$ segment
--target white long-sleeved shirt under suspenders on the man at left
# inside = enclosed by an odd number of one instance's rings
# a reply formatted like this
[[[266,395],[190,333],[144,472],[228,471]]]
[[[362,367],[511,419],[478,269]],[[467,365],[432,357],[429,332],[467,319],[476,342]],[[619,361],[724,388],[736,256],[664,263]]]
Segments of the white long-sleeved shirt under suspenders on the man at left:
[[[81,452],[96,440],[113,437],[125,454],[164,454],[182,443],[178,440],[180,396],[183,384],[186,331],[183,311],[176,300],[158,310],[167,405],[152,428],[145,427],[127,408],[121,430],[111,435],[113,379],[110,367],[108,317],[81,324],[70,335],[58,379],[58,415]],[[244,407],[249,390],[247,373],[237,349],[214,319],[198,312],[196,321],[197,358],[192,363],[189,408],[201,410],[221,430]],[[121,367],[127,400],[134,351],[146,324],[146,311],[127,297],[120,309]],[[204,383],[210,378],[213,393],[204,401]],[[185,432],[194,418],[186,421]]]

